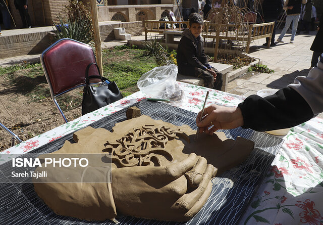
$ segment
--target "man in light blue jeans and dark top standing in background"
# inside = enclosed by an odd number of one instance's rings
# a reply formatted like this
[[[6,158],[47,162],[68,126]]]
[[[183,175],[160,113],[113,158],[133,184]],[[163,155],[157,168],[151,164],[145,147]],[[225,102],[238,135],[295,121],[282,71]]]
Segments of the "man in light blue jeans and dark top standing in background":
[[[292,36],[291,36],[291,43],[294,43],[294,38],[296,35],[297,31],[297,26],[298,26],[298,20],[299,20],[299,15],[301,13],[301,5],[306,4],[306,0],[287,0],[284,4],[283,9],[286,10],[286,22],[285,22],[285,27],[282,30],[281,35],[279,35],[277,41],[278,42],[284,42],[282,39],[285,36],[287,29],[293,22],[292,26]]]

